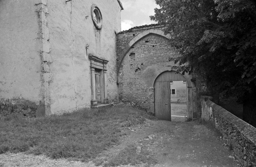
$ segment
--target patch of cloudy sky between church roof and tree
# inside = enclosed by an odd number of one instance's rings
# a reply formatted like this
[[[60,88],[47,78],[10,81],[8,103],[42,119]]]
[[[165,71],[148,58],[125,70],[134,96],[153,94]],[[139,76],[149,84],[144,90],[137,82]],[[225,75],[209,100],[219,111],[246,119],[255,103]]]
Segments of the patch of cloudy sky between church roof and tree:
[[[159,8],[155,0],[121,0],[124,10],[121,11],[121,29],[128,30],[134,26],[155,24],[149,16],[154,15],[154,8]]]

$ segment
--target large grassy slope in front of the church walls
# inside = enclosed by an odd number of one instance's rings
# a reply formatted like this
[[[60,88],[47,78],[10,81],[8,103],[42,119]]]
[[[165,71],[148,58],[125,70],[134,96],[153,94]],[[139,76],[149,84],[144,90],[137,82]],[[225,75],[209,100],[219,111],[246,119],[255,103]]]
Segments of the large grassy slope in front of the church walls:
[[[129,106],[86,109],[62,116],[0,118],[0,154],[24,152],[88,161],[117,144],[122,127],[141,124],[147,114]]]

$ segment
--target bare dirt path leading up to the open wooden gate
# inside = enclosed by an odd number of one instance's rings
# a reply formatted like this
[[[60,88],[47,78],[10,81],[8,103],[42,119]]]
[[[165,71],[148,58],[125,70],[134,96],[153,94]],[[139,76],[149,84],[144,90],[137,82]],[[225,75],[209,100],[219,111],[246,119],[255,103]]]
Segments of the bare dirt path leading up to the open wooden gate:
[[[172,121],[148,123],[150,126],[136,129],[128,138],[148,148],[159,161],[157,166],[240,166],[220,135],[199,120],[186,122],[184,118],[173,117]],[[124,141],[129,141],[128,138]]]

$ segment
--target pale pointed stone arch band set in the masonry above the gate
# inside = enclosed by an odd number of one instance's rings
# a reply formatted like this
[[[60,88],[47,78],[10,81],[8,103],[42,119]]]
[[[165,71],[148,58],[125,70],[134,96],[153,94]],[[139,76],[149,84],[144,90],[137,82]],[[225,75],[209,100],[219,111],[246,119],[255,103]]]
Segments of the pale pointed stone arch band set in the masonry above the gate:
[[[142,33],[138,34],[136,37],[134,37],[123,49],[122,53],[120,54],[120,62],[117,63],[117,74],[119,73],[119,69],[120,69],[120,65],[123,62],[124,56],[126,55],[126,53],[131,49],[131,47],[133,47],[133,45],[135,45],[140,39],[145,38],[146,36],[150,35],[150,34],[156,34],[156,35],[160,35],[166,39],[170,39],[170,35],[169,34],[164,34],[164,32],[162,30],[159,29],[149,29],[146,31],[143,31]]]

